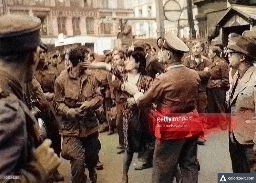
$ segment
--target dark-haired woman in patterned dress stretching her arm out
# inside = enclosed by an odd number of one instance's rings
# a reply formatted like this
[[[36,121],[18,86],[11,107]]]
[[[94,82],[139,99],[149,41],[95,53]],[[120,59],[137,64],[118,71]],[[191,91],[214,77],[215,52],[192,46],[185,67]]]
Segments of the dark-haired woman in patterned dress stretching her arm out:
[[[124,104],[123,115],[125,154],[122,183],[128,183],[128,170],[132,162],[133,153],[145,149],[154,148],[154,139],[150,135],[148,121],[146,117],[140,117],[140,119],[142,118],[143,121],[140,120],[140,124],[137,124],[137,127],[143,130],[142,135],[138,135],[134,130],[134,118],[137,118],[138,114],[144,114],[145,110],[139,108],[132,96],[124,90],[124,85],[128,81],[136,84],[139,91],[143,93],[150,87],[150,84],[152,83],[152,78],[146,76],[145,54],[141,51],[128,51],[127,56],[129,59],[125,61],[125,66],[113,66],[104,62],[82,63],[82,65],[87,68],[96,68],[111,71],[116,77],[121,80],[121,89],[127,98]],[[137,129],[137,131],[140,130]],[[139,147],[138,144],[140,144]]]

